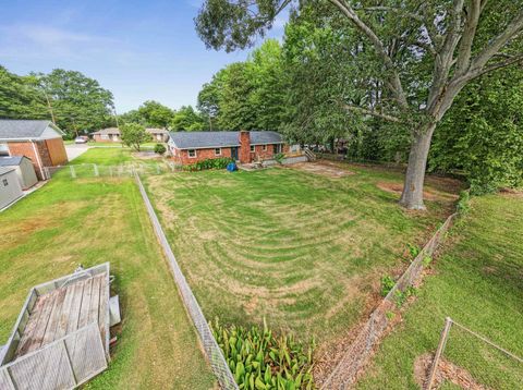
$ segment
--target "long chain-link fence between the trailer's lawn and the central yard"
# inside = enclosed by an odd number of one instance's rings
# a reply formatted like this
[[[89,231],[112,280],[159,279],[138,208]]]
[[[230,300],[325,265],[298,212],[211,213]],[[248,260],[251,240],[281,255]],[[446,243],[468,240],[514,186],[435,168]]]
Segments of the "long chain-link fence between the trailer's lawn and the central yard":
[[[187,309],[199,336],[199,340],[202,341],[202,345],[204,346],[204,351],[209,359],[210,367],[215,373],[218,382],[220,383],[222,389],[239,389],[236,382],[234,381],[234,377],[232,376],[231,369],[227,364],[227,361],[221,352],[220,346],[215,340],[212,332],[210,331],[209,325],[205,319],[205,316],[202,312],[202,308],[196,301],[191,288],[188,287],[187,281],[185,280],[180,266],[172,253],[171,246],[167,241],[166,234],[163,233],[163,229],[161,228],[160,221],[156,216],[155,209],[147,196],[147,193],[139,180],[138,174],[135,175],[136,183],[138,184],[139,192],[142,197],[144,198],[145,206],[147,208],[147,212],[149,215],[150,221],[155,229],[155,233],[163,248],[163,253],[166,254],[169,264],[171,266],[172,273],[174,276],[174,281],[180,290],[180,294],[182,295],[182,301]]]

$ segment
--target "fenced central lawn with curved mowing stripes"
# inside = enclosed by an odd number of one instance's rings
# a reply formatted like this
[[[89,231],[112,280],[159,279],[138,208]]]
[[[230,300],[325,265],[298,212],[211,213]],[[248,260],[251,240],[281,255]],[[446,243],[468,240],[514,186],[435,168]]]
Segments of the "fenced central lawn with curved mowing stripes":
[[[178,172],[146,181],[171,246],[208,319],[268,324],[323,345],[379,298],[382,276],[406,267],[452,204],[401,209],[401,174],[350,167],[341,179],[297,169]],[[437,183],[434,182],[437,186]],[[436,191],[436,190],[435,190]],[[450,200],[449,200],[450,199]]]

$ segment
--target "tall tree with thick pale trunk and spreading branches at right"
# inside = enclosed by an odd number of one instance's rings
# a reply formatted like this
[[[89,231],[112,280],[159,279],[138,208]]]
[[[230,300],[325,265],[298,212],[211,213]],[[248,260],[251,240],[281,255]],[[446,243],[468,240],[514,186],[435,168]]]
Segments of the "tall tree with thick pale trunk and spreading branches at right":
[[[292,0],[206,0],[196,29],[208,47],[227,51],[253,45]],[[400,204],[423,209],[427,156],[437,124],[458,94],[481,75],[523,60],[521,0],[350,1],[301,0],[332,5],[362,37],[362,70],[384,86],[379,110],[373,105],[338,102],[345,110],[401,123],[411,149]]]

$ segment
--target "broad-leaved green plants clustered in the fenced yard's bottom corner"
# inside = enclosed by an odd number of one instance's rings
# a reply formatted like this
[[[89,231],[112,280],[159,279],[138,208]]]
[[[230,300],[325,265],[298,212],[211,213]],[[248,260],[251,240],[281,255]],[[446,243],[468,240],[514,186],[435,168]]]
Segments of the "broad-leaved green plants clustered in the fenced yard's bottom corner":
[[[212,334],[240,389],[314,389],[313,349],[291,336],[276,337],[264,329],[210,324]]]

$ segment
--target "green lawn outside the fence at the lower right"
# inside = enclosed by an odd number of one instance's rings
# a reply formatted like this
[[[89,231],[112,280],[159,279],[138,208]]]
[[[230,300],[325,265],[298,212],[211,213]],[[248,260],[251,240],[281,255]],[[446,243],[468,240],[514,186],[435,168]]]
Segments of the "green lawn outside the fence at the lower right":
[[[523,198],[473,198],[403,321],[360,389],[417,389],[415,359],[434,353],[446,316],[523,356]],[[453,327],[445,357],[491,389],[521,389],[523,365]],[[450,388],[450,385],[447,383]],[[446,386],[447,386],[446,385]]]

